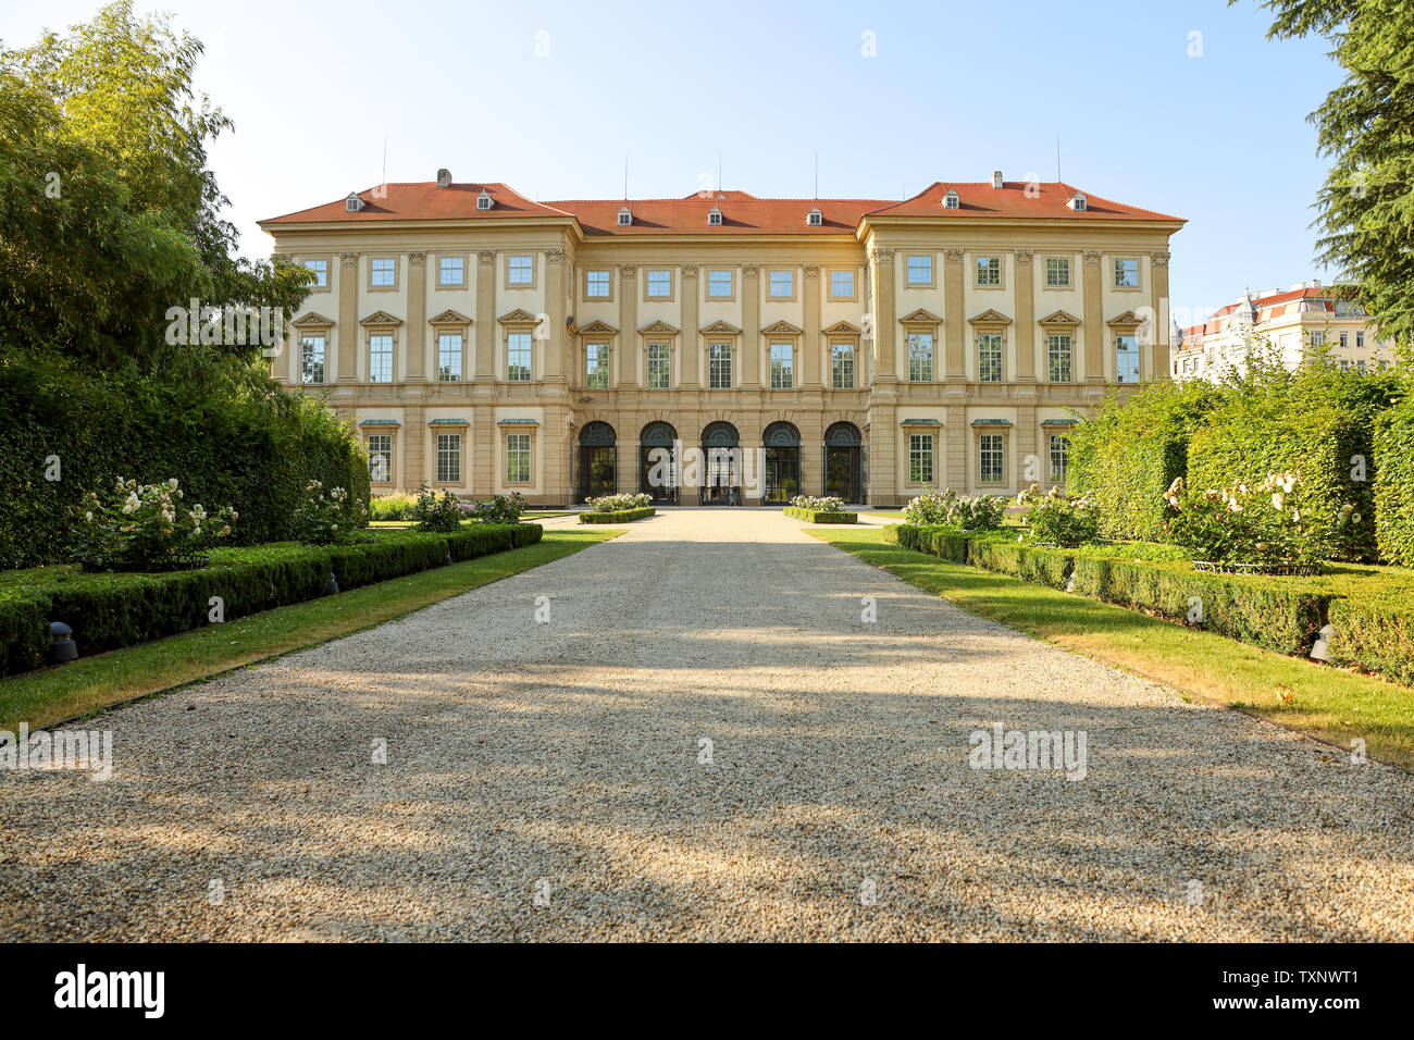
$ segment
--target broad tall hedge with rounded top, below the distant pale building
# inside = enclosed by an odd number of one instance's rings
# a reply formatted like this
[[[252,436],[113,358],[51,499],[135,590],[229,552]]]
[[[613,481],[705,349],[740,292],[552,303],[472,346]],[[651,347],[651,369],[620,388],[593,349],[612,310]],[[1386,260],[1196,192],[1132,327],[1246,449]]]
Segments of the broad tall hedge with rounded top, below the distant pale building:
[[[1274,471],[1299,471],[1322,508],[1336,511],[1350,502],[1360,518],[1332,557],[1376,560],[1374,423],[1396,386],[1393,374],[1314,365],[1267,374],[1250,388],[1227,392],[1189,443],[1189,483],[1220,488],[1237,481],[1260,484]]]

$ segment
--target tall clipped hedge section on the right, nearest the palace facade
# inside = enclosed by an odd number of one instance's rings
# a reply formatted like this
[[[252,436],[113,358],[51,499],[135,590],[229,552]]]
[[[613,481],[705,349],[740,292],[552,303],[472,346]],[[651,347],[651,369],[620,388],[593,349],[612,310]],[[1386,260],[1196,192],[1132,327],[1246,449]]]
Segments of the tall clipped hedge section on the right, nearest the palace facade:
[[[1070,434],[1066,491],[1100,507],[1106,538],[1158,541],[1164,492],[1188,471],[1188,444],[1219,398],[1208,383],[1148,383],[1128,399],[1111,391]]]

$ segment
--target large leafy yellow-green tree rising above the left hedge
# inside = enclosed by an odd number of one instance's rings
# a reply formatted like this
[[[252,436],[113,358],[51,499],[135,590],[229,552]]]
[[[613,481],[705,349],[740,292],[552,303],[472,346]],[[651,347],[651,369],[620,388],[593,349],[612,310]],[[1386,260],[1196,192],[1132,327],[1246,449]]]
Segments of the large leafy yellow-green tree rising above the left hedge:
[[[0,47],[0,349],[153,369],[173,359],[170,307],[304,300],[307,272],[232,258],[206,168],[206,143],[232,123],[192,91],[201,54],[130,0]]]

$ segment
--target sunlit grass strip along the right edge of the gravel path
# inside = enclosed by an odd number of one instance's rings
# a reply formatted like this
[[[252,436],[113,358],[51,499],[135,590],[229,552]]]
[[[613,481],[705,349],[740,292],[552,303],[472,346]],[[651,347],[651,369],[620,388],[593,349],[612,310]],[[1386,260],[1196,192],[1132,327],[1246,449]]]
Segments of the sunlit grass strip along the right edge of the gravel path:
[[[884,542],[877,528],[812,528],[823,542],[974,614],[1192,696],[1414,767],[1414,691],[1159,621],[1137,611]]]

